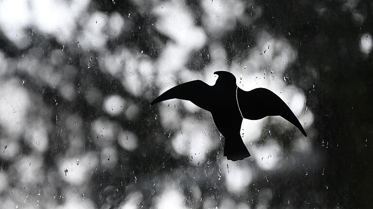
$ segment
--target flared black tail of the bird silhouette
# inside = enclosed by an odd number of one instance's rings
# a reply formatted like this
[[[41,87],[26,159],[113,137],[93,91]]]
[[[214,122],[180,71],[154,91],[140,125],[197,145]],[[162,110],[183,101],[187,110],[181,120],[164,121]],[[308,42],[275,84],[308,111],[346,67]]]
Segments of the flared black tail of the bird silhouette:
[[[226,156],[228,160],[243,160],[244,158],[251,156],[249,150],[247,150],[245,144],[243,143],[239,132],[237,134],[224,136],[224,139],[223,156]]]

